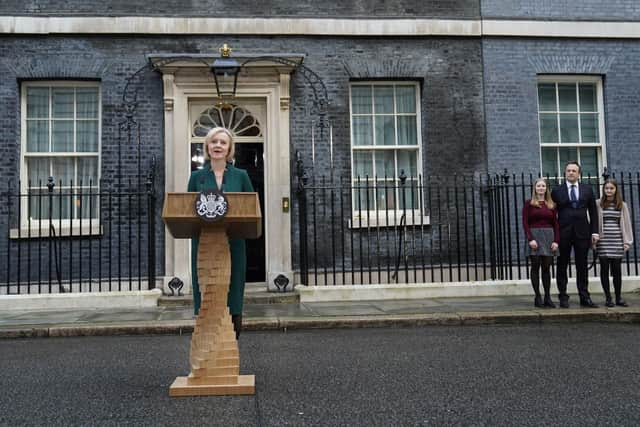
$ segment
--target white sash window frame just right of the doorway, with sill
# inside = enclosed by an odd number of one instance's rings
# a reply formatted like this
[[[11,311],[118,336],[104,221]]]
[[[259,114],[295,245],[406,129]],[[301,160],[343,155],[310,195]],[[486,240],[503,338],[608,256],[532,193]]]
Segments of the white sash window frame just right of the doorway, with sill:
[[[396,111],[396,103],[393,105],[393,116],[395,119],[395,138],[396,144],[394,145],[354,145],[354,127],[353,127],[353,98],[352,98],[352,89],[355,86],[393,86],[394,92],[397,86],[410,86],[414,88],[415,91],[415,115],[416,115],[416,145],[415,146],[399,146],[397,145],[398,140],[398,125],[397,125],[397,117],[401,114]],[[402,149],[407,150],[415,150],[416,151],[416,171],[418,176],[422,176],[422,111],[421,111],[421,99],[420,99],[420,83],[417,81],[411,80],[375,80],[375,81],[353,81],[349,84],[349,127],[350,127],[350,151],[351,151],[351,185],[355,185],[357,183],[358,177],[355,173],[355,152],[356,151],[383,151],[383,150],[393,150],[398,151]],[[369,115],[369,114],[366,114]],[[375,139],[375,113],[372,112],[370,114],[372,116],[373,122],[373,138]],[[374,141],[375,142],[375,141]],[[397,157],[396,157],[397,162]],[[376,165],[375,161],[373,162],[373,177],[369,178],[369,182],[375,187],[375,176],[376,176]],[[399,174],[400,170],[398,169],[397,163],[394,167],[395,173]],[[405,174],[407,172],[405,171]],[[416,182],[418,182],[418,176],[414,177]],[[380,178],[380,177],[378,177]],[[424,190],[424,176],[423,178],[423,188]],[[365,182],[364,177],[360,177],[360,183]],[[398,177],[394,177],[394,185],[399,182]],[[407,175],[407,185],[411,185],[409,182],[409,176]],[[406,212],[405,224],[407,225],[428,225],[429,224],[429,216],[424,215],[424,191],[420,191],[418,194],[418,207],[413,209],[401,209],[400,203],[396,203],[398,206],[395,209],[379,209],[376,210],[375,205],[373,210],[366,209],[358,209],[358,197],[355,191],[351,193],[351,206],[352,206],[352,217],[349,221],[349,226],[351,228],[365,228],[365,227],[384,227],[384,226],[395,226],[400,223],[400,219],[402,214]],[[400,200],[401,192],[398,190],[394,195],[396,201]],[[376,203],[374,196],[374,204]]]

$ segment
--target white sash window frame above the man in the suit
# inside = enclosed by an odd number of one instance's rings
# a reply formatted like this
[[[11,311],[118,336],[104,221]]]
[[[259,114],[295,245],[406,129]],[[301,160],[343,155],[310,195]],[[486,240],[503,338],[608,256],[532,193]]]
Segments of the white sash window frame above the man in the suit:
[[[595,83],[596,84],[596,102],[597,102],[597,108],[598,108],[598,141],[599,142],[589,142],[589,143],[583,143],[583,142],[578,142],[578,143],[566,143],[566,142],[558,142],[558,143],[543,143],[542,142],[542,132],[540,130],[540,114],[543,113],[556,113],[558,115],[558,119],[559,119],[559,115],[562,114],[559,111],[560,108],[560,103],[559,103],[559,99],[558,99],[558,89],[556,87],[556,111],[541,111],[540,110],[540,101],[539,101],[539,95],[538,95],[538,84],[539,83],[573,83],[573,84],[578,84],[578,83]],[[558,148],[576,148],[577,152],[578,152],[578,158],[577,159],[572,159],[572,160],[576,160],[578,163],[580,162],[580,148],[596,148],[596,156],[597,156],[597,174],[602,171],[604,169],[604,167],[607,165],[607,153],[606,153],[606,135],[605,135],[605,117],[604,117],[604,94],[603,94],[603,84],[602,84],[602,77],[600,76],[586,76],[586,75],[541,75],[538,76],[537,82],[536,82],[536,106],[537,106],[537,110],[538,110],[538,114],[537,114],[537,126],[538,126],[538,154],[539,154],[539,161],[540,161],[540,173],[543,173],[543,165],[542,165],[542,149],[543,148],[554,148],[554,149],[558,149]],[[580,102],[578,102],[577,105],[578,111],[577,113],[580,114]],[[582,139],[582,126],[580,126],[580,122],[578,121],[578,132],[580,134],[580,139]],[[560,124],[558,123],[558,134],[560,133]],[[549,176],[550,179],[564,179],[564,165],[560,164],[560,160],[559,160],[559,156],[556,157],[557,158],[557,172],[558,175],[557,176]],[[592,177],[592,178],[598,178],[598,176]],[[583,178],[586,178],[586,176],[583,176]]]

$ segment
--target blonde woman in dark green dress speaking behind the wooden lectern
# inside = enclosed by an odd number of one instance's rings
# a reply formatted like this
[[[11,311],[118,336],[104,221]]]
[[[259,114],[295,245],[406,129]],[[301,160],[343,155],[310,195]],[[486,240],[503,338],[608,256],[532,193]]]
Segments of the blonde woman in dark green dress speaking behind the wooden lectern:
[[[211,129],[205,137],[202,152],[205,162],[202,169],[191,173],[187,191],[219,190],[224,192],[253,192],[249,175],[231,163],[234,154],[233,134],[226,128]],[[244,239],[230,239],[231,284],[227,305],[231,312],[236,338],[242,330],[242,306],[244,284],[247,271],[247,255]],[[198,286],[198,239],[191,239],[191,283],[193,288],[193,309],[200,310],[201,295]]]

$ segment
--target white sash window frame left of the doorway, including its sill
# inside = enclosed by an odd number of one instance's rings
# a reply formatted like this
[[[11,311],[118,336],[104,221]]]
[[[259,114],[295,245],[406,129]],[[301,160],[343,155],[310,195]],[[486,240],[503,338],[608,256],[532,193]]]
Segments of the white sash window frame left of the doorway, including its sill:
[[[78,153],[78,152],[43,152],[38,154],[27,154],[27,90],[32,87],[94,87],[98,89],[98,147],[97,152],[92,153]],[[49,123],[51,123],[52,117],[51,108],[51,94],[49,95]],[[74,129],[77,123],[77,117],[75,117],[74,106]],[[76,132],[74,132],[75,138]],[[49,125],[49,141],[51,140],[51,125]],[[75,140],[74,140],[75,145]],[[51,158],[51,157],[96,157],[98,160],[97,165],[97,182],[93,184],[93,187],[97,188],[92,194],[98,195],[100,191],[100,179],[102,170],[102,85],[99,81],[76,81],[76,80],[42,80],[42,81],[25,81],[22,82],[20,88],[20,194],[27,194],[29,191],[28,175],[27,175],[27,159],[35,157]],[[54,177],[55,178],[55,177]],[[59,183],[56,182],[55,189],[57,190]],[[46,183],[43,182],[43,185]],[[83,188],[88,185],[83,184]],[[56,191],[54,190],[54,192]],[[87,193],[88,194],[88,193]],[[46,196],[42,196],[46,197]],[[11,238],[38,238],[50,235],[50,223],[48,219],[29,218],[28,201],[26,197],[20,198],[20,230],[12,229],[10,232]],[[98,197],[99,200],[99,197]],[[100,226],[100,206],[95,207],[96,214],[92,218],[63,218],[52,219],[51,223],[55,227],[55,233],[57,236],[70,236],[70,235],[95,235],[102,232]]]

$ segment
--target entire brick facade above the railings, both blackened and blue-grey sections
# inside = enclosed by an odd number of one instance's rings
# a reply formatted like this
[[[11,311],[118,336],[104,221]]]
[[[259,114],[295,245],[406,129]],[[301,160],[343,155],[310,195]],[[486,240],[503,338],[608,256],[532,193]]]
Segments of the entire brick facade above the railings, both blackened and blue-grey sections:
[[[506,4],[509,3],[509,4]],[[149,16],[240,18],[376,18],[521,19],[640,21],[637,1],[501,2],[496,0],[359,0],[354,2],[260,3],[246,0],[182,2],[98,2],[7,0],[0,16]],[[603,78],[607,164],[633,171],[640,159],[640,42],[637,39],[522,38],[481,36],[325,37],[241,35],[92,35],[35,36],[0,34],[0,182],[17,189],[20,168],[20,84],[25,80],[97,80],[102,93],[102,178],[135,178],[151,158],[157,159],[156,190],[162,194],[164,164],[163,87],[159,73],[138,75],[141,145],[118,139],[123,119],[122,95],[127,78],[147,65],[147,55],[162,53],[211,54],[223,43],[234,52],[306,55],[304,64],[326,84],[331,102],[334,168],[351,176],[349,83],[352,80],[412,80],[420,83],[423,175],[539,170],[536,79],[543,74],[598,75]],[[291,79],[291,188],[295,188],[295,153],[311,161],[308,114],[311,89],[299,73]],[[329,145],[316,146],[315,172],[329,170]],[[5,184],[8,183],[8,184]],[[2,188],[4,191],[4,188]],[[156,227],[157,271],[164,268],[164,227]],[[0,203],[0,230],[8,230],[7,207]],[[292,221],[294,258],[298,253],[297,223]],[[439,237],[438,237],[439,238]],[[0,259],[6,246],[0,245]],[[295,266],[297,267],[297,266]],[[0,267],[0,276],[4,272]]]

